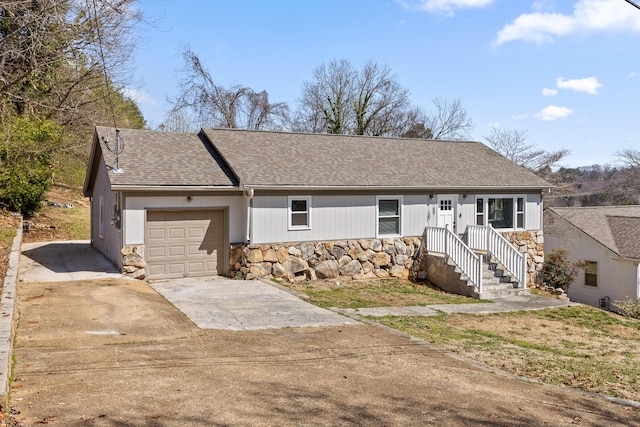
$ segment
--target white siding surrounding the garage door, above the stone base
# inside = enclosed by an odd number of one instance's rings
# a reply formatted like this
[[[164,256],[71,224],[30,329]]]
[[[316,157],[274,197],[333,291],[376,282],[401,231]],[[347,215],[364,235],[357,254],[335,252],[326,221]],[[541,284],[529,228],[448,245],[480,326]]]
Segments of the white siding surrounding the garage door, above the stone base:
[[[229,209],[229,243],[245,240],[245,199],[241,195],[126,197],[123,208],[125,245],[144,244],[146,209]],[[286,227],[286,223],[285,223]]]

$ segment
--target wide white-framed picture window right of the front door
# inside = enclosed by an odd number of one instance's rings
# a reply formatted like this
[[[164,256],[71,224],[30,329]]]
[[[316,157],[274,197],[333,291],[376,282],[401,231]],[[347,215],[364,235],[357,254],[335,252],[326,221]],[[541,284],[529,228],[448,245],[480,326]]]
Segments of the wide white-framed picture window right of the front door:
[[[476,198],[476,225],[491,225],[500,230],[524,230],[524,196],[487,195]]]

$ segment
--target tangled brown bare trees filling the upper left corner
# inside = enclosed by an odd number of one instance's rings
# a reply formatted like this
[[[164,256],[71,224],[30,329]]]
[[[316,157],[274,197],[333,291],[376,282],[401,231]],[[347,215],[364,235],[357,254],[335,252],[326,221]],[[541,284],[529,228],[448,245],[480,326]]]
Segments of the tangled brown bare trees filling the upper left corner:
[[[135,4],[0,0],[3,108],[66,126],[102,121],[105,101],[131,77],[132,29],[142,20]]]

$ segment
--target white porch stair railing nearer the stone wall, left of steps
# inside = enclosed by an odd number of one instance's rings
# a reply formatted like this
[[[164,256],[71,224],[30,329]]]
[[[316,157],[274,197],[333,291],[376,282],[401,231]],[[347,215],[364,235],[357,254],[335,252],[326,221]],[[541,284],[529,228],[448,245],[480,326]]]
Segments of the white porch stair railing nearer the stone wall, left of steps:
[[[474,290],[482,292],[482,255],[474,253],[448,228],[426,227],[423,241],[427,251],[444,254],[467,276]]]

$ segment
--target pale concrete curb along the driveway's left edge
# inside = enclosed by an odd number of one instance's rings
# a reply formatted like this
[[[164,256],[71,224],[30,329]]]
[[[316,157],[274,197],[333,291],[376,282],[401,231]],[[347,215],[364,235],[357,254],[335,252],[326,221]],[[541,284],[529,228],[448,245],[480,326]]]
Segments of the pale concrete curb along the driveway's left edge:
[[[9,378],[11,377],[11,356],[13,350],[13,334],[15,332],[16,317],[16,284],[18,282],[18,267],[20,264],[20,247],[22,246],[22,217],[16,237],[13,238],[9,265],[0,295],[0,406],[9,407]]]

